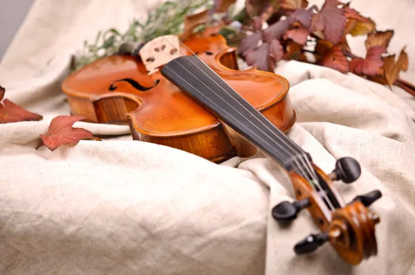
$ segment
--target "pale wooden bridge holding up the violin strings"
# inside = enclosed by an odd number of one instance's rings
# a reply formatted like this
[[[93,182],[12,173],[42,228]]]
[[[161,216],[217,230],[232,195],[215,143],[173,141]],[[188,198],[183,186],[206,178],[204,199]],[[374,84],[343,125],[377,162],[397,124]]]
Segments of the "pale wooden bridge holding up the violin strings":
[[[158,67],[181,57],[180,41],[176,35],[164,35],[147,42],[139,52],[149,75],[156,73]]]

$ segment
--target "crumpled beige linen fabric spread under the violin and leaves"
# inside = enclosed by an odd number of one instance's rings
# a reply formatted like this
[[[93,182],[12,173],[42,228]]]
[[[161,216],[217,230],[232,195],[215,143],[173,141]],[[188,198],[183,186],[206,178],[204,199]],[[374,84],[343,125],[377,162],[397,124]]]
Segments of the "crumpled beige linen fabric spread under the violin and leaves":
[[[50,120],[69,113],[59,84],[74,50],[155,4],[38,0],[30,10],[0,65],[0,84],[44,120],[0,125],[0,274],[415,274],[413,103],[355,75],[295,61],[276,68],[291,83],[298,115],[290,138],[327,173],[335,158],[360,161],[357,182],[336,183],[347,202],[383,193],[372,207],[382,219],[378,256],[358,267],[329,245],[295,256],[293,245],[317,227],[306,212],[288,228],[270,218],[293,192],[286,173],[260,153],[213,164],[133,141],[127,126],[84,122],[75,126],[109,138],[35,150]],[[414,19],[403,23],[411,0],[353,6],[380,28],[395,28],[391,50],[407,44],[415,60],[405,32]],[[412,61],[403,76],[414,82]]]

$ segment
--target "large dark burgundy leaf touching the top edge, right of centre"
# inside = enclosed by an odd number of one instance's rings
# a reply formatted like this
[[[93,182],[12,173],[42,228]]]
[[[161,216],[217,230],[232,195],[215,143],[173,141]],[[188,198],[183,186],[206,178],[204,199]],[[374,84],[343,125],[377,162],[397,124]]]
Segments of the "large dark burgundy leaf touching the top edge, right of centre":
[[[317,15],[313,15],[311,21],[311,32],[322,30],[326,40],[333,44],[338,44],[346,26],[346,17],[336,2],[338,1],[326,1],[322,10]]]

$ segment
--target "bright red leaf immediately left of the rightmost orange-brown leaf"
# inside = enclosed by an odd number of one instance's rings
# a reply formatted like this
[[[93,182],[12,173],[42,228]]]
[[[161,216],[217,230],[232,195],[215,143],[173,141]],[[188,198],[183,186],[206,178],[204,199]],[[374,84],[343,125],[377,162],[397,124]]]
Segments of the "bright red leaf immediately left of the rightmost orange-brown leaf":
[[[379,75],[383,66],[382,53],[386,53],[386,49],[382,46],[369,48],[366,59],[355,58],[350,61],[351,72],[357,75]]]

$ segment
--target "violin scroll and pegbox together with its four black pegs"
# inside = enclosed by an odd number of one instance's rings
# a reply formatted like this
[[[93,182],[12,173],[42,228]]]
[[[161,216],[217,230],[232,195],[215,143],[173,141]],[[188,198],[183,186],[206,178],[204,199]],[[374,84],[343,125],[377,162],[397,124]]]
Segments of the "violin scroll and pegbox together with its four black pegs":
[[[297,201],[280,202],[273,207],[272,216],[278,222],[290,222],[302,209],[307,209],[320,227],[320,234],[311,234],[294,247],[295,254],[314,252],[324,243],[331,243],[338,254],[352,265],[377,254],[375,225],[380,222],[378,214],[367,209],[381,198],[378,190],[357,196],[345,204],[333,187],[331,178],[351,182],[360,176],[360,165],[353,158],[342,158],[335,170],[325,175],[313,165],[318,182],[310,184],[304,175],[291,171],[290,177]],[[334,175],[334,176],[333,176]]]

